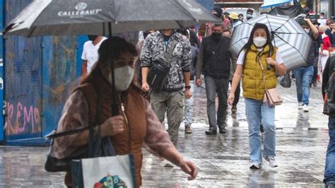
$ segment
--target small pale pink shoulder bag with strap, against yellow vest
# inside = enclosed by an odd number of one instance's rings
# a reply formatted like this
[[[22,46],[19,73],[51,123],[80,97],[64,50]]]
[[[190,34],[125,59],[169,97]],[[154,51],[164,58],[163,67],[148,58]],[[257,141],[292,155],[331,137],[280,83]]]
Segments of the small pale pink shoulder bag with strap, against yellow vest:
[[[261,64],[261,59],[260,59],[261,52],[259,52],[259,55],[257,56],[259,65],[261,66],[261,71],[263,74],[263,82],[264,82],[264,88],[265,88],[265,93],[264,93],[264,102],[271,107],[274,107],[276,105],[281,105],[283,104],[283,98],[281,98],[281,95],[279,94],[279,91],[277,88],[271,88],[268,89],[266,88],[266,83],[265,83],[265,70],[263,65]]]

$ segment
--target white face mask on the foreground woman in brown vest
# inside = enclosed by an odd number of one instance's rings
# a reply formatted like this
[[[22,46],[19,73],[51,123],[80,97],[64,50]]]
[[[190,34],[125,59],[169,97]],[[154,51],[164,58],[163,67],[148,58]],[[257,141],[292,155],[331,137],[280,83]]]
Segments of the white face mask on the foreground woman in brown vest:
[[[133,81],[135,69],[130,66],[122,66],[120,68],[114,69],[115,77],[115,88],[117,91],[127,90]],[[108,76],[108,81],[112,84],[112,74]]]

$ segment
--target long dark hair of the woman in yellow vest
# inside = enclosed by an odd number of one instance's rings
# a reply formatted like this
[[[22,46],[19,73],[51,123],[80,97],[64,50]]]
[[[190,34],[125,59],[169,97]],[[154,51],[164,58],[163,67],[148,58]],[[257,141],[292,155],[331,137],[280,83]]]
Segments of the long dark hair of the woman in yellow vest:
[[[247,44],[245,44],[245,46],[242,47],[240,53],[242,52],[242,50],[245,50],[245,57],[247,57],[247,53],[251,49],[252,45],[254,45],[254,42],[253,42],[253,40],[254,40],[254,32],[256,30],[258,30],[258,29],[264,29],[265,32],[266,32],[266,38],[267,39],[266,39],[266,44],[264,45],[264,47],[266,45],[269,45],[269,47],[270,47],[269,57],[271,57],[271,55],[274,53],[274,45],[272,45],[272,42],[271,42],[271,35],[270,35],[269,28],[264,23],[256,23],[254,25],[254,28],[252,28],[252,32],[250,33],[249,40],[248,40]]]

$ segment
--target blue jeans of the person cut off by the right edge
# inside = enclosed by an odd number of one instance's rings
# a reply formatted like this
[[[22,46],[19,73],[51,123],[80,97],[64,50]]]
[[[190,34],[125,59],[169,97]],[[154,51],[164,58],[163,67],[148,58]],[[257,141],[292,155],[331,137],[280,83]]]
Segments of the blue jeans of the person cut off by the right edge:
[[[335,184],[335,115],[329,116],[329,143],[326,155],[326,168],[324,169],[324,184]]]

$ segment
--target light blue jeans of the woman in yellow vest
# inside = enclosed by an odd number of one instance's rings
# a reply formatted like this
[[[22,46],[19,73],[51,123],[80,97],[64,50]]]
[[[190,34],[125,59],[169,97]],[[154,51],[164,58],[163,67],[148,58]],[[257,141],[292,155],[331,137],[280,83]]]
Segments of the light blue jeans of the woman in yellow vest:
[[[249,156],[253,163],[261,163],[260,122],[264,127],[264,158],[276,156],[275,107],[263,100],[245,98],[245,114],[249,125]]]

